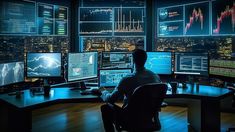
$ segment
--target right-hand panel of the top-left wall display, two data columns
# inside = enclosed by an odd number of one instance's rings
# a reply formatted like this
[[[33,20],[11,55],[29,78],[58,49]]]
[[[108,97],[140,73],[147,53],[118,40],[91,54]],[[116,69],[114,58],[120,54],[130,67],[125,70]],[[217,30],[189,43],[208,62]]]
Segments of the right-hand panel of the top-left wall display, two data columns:
[[[37,3],[38,35],[68,35],[68,8]]]

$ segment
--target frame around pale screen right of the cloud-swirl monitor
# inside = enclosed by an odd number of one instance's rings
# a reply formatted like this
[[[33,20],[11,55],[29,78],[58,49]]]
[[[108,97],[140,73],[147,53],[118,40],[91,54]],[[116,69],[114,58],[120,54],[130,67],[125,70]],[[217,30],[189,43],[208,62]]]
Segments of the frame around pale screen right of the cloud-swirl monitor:
[[[70,56],[70,54],[83,54],[83,53],[96,53],[97,54],[97,74],[96,74],[96,76],[94,76],[94,77],[87,77],[87,78],[82,78],[82,79],[76,79],[76,80],[69,80],[69,56]],[[68,60],[67,60],[67,74],[66,74],[66,79],[67,79],[67,81],[68,82],[82,82],[82,81],[88,81],[88,80],[94,80],[94,79],[96,79],[96,78],[98,78],[98,70],[99,70],[99,66],[98,66],[98,57],[99,56],[99,53],[97,52],[97,51],[91,51],[91,52],[69,52],[68,53],[68,56],[67,56],[67,58],[68,58]]]

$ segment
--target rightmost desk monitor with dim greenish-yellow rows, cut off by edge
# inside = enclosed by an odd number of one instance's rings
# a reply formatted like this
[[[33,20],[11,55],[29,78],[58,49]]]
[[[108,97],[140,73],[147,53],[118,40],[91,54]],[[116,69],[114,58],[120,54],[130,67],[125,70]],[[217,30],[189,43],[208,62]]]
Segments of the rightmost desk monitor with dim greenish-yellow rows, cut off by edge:
[[[235,78],[235,61],[211,59],[210,75],[221,76],[223,78]]]

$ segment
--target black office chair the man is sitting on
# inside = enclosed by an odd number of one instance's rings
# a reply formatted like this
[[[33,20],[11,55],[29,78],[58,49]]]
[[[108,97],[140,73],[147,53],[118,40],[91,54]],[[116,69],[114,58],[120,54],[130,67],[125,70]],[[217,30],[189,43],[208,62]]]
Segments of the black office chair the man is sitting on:
[[[167,92],[162,83],[146,84],[136,88],[128,105],[123,108],[123,117],[116,120],[117,131],[148,132],[161,129],[158,113]]]

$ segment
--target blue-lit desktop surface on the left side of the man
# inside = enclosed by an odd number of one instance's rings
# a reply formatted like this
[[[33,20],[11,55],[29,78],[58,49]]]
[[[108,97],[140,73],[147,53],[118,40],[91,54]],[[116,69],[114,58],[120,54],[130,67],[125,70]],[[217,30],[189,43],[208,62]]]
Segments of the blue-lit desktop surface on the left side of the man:
[[[36,105],[66,102],[66,101],[86,101],[86,100],[99,100],[95,95],[81,95],[80,90],[71,90],[70,88],[52,88],[50,96],[46,97],[43,94],[33,95],[30,90],[24,90],[20,98],[15,95],[2,94],[0,100],[18,108],[31,108]]]

